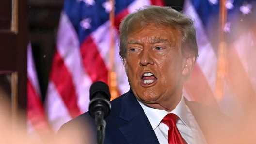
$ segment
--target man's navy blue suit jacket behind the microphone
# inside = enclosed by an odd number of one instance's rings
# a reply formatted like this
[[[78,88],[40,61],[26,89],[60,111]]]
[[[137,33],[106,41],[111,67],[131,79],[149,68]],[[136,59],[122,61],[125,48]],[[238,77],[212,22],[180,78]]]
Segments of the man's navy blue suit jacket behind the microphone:
[[[185,100],[185,103],[195,116],[208,144],[212,142],[216,142],[217,144],[218,141],[216,141],[215,135],[223,135],[226,132],[220,132],[225,131],[225,128],[221,128],[223,130],[220,130],[218,127],[222,127],[222,125],[219,125],[219,121],[215,119],[216,116],[220,118],[219,116],[223,115],[219,115],[219,113],[216,113],[211,108],[206,109],[196,102]],[[214,120],[212,121],[212,119]],[[212,126],[209,126],[208,120],[212,121]],[[225,118],[222,118],[222,120],[225,120]],[[104,144],[159,144],[144,110],[131,90],[111,101],[111,111],[109,116],[105,118],[105,121]],[[217,130],[217,133],[214,132],[215,130]],[[67,143],[96,144],[94,119],[88,112],[79,115],[65,123],[60,128],[58,135],[66,135],[64,137],[69,140],[65,141]]]

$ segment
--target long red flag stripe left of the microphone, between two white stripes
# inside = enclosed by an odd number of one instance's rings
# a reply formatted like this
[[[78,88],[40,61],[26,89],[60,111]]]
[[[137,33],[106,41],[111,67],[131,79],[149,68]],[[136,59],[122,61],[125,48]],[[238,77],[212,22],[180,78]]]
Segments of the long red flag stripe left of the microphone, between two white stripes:
[[[58,51],[55,53],[50,78],[61,95],[72,118],[81,114],[77,106],[77,95],[73,85],[72,76],[66,68]]]

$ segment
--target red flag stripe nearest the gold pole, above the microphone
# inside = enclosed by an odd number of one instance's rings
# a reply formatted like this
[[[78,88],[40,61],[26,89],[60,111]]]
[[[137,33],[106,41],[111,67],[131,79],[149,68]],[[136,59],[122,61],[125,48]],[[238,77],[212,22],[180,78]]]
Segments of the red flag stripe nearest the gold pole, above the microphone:
[[[108,83],[108,69],[91,36],[87,37],[82,43],[81,55],[85,71],[90,76],[92,82],[103,81]]]

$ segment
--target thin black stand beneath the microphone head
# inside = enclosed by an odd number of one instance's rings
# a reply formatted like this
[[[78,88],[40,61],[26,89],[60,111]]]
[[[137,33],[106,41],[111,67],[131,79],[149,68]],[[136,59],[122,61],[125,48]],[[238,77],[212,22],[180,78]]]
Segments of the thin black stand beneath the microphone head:
[[[103,119],[104,112],[96,111],[94,115],[95,115],[95,124],[97,126],[97,144],[103,144],[104,137],[105,137],[105,127],[106,127],[106,122]]]

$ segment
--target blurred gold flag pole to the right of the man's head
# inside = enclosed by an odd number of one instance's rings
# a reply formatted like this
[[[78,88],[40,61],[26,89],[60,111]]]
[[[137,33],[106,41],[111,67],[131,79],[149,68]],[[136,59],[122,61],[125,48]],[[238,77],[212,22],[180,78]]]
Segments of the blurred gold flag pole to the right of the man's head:
[[[227,75],[227,43],[224,27],[227,21],[227,9],[225,7],[226,0],[220,0],[219,10],[219,48],[218,48],[218,65],[217,78],[215,87],[215,97],[220,100],[224,95],[224,78]]]

